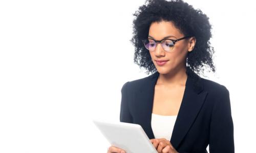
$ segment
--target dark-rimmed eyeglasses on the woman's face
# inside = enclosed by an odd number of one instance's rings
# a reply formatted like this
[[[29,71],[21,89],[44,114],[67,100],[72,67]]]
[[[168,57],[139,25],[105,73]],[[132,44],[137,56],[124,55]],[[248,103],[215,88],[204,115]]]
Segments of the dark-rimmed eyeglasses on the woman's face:
[[[162,40],[155,40],[152,38],[147,38],[147,39],[143,39],[142,42],[144,44],[144,46],[150,50],[150,52],[153,52],[157,46],[157,43],[161,43],[161,46],[163,47],[163,49],[166,52],[172,52],[173,48],[174,48],[174,44],[177,41],[180,41],[182,39],[186,39],[192,36],[186,36],[177,40],[173,40],[173,39],[162,39]]]

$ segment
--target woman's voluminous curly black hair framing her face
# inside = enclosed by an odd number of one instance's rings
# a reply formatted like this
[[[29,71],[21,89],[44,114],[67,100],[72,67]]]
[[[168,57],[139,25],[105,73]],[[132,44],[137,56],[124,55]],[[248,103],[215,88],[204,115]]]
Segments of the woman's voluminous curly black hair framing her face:
[[[194,9],[182,0],[146,0],[134,14],[133,37],[130,40],[135,46],[134,62],[147,70],[147,74],[157,71],[150,53],[144,47],[142,40],[148,37],[152,22],[173,21],[175,27],[185,36],[196,37],[193,52],[188,52],[186,65],[196,73],[200,73],[203,66],[210,67],[215,72],[212,55],[214,47],[210,45],[211,24],[209,18],[200,9]],[[210,71],[209,70],[209,71]],[[203,72],[202,72],[203,73]]]

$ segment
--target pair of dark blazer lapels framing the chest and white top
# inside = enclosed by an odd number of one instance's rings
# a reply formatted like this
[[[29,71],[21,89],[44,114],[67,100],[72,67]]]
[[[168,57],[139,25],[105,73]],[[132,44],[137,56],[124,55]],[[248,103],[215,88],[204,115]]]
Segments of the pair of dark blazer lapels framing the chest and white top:
[[[203,83],[201,77],[197,75],[193,70],[187,67],[187,80],[185,84],[185,91],[182,98],[181,106],[178,112],[178,116],[174,125],[174,130],[170,143],[175,148],[178,148],[182,139],[185,137],[190,126],[193,124],[194,120],[199,113],[207,92],[204,91]],[[137,93],[138,100],[141,104],[141,126],[146,132],[148,138],[155,139],[151,126],[151,117],[153,110],[153,100],[155,85],[159,77],[159,72],[156,71],[154,74],[148,77],[148,81]]]

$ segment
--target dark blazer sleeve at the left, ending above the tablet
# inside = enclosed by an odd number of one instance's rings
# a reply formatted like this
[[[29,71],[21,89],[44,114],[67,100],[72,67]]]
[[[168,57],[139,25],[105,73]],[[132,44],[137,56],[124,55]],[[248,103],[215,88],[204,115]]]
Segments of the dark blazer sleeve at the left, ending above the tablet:
[[[126,82],[121,89],[121,107],[120,107],[120,122],[133,123],[133,118],[130,113],[127,96],[127,86],[129,82]]]

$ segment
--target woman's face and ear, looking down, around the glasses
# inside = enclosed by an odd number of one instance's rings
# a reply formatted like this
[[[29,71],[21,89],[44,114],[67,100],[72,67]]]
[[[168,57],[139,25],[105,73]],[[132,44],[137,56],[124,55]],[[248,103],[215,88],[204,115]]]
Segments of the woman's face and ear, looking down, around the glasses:
[[[173,22],[170,21],[153,22],[150,26],[148,35],[148,38],[153,38],[155,40],[162,40],[167,36],[170,36],[168,39],[174,40],[185,37],[179,29],[175,28]],[[170,53],[166,52],[161,44],[158,43],[155,50],[150,52],[157,71],[160,74],[166,74],[171,71],[179,71],[179,69],[185,68],[187,53],[193,50],[195,45],[193,44],[193,41],[195,43],[195,38],[193,37],[177,41]],[[167,60],[167,62],[163,65],[159,65],[156,60]]]

